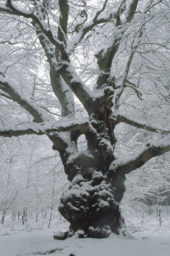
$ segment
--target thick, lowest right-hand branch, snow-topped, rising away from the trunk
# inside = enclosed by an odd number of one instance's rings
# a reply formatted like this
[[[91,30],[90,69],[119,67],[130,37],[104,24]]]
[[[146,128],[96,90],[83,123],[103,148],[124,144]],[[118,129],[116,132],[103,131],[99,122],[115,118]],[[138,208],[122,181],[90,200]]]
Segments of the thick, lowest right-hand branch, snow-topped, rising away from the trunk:
[[[127,158],[117,158],[110,165],[110,172],[117,174],[128,174],[135,169],[140,168],[151,158],[163,155],[170,151],[170,134],[167,135],[159,144],[149,141],[138,154]]]

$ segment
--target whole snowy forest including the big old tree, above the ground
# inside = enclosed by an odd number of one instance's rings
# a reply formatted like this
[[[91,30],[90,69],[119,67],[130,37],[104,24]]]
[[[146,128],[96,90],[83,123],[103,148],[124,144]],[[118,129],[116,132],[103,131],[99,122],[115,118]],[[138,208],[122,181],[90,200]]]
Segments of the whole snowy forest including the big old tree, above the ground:
[[[65,240],[169,215],[170,5],[2,0],[0,221]],[[131,215],[131,214],[130,214]]]

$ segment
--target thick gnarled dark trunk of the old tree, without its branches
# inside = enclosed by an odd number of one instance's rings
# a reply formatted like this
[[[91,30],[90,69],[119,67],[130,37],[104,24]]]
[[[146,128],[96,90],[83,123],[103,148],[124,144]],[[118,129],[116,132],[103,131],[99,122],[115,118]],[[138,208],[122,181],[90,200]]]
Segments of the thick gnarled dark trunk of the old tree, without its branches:
[[[118,234],[123,225],[120,201],[126,178],[110,168],[114,160],[114,144],[110,141],[115,141],[114,131],[110,130],[108,122],[91,119],[85,133],[87,149],[67,158],[65,170],[71,183],[61,196],[59,207],[70,222],[65,238],[78,230],[90,237],[104,238],[111,232]],[[55,235],[55,239],[60,237],[63,236]]]

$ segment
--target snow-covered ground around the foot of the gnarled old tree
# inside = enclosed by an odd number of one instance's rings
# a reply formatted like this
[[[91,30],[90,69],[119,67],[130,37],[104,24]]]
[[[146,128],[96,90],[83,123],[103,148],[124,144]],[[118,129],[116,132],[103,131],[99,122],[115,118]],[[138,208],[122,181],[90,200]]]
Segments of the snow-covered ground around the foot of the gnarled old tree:
[[[157,219],[141,223],[128,219],[127,226],[133,239],[111,235],[105,239],[76,237],[65,241],[53,240],[53,233],[66,231],[67,222],[53,222],[47,229],[44,224],[5,221],[0,225],[0,255],[58,255],[58,256],[169,256],[170,219],[159,226]]]

